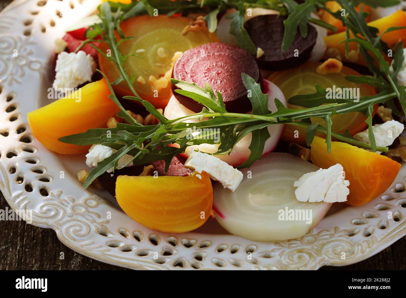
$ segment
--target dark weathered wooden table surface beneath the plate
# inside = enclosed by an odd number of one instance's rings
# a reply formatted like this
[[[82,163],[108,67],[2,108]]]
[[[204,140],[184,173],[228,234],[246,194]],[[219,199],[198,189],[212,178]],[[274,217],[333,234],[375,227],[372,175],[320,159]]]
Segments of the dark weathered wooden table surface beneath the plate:
[[[0,0],[0,11],[11,0]],[[8,208],[0,193],[0,209]],[[406,236],[363,262],[344,267],[325,266],[320,270],[406,270]],[[60,253],[65,259],[59,259]],[[52,229],[24,221],[0,221],[0,270],[122,270],[84,257],[67,248]]]

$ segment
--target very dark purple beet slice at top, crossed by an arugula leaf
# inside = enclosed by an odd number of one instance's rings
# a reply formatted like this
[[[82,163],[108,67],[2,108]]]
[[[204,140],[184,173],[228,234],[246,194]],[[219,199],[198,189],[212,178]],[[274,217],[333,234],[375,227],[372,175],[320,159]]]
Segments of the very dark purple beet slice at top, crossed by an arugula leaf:
[[[309,58],[317,39],[316,29],[307,25],[308,33],[305,39],[298,30],[289,49],[282,51],[285,19],[286,17],[278,15],[259,15],[248,20],[244,25],[255,46],[260,47],[264,52],[263,56],[257,58],[259,68],[288,69],[302,64]],[[296,56],[295,50],[298,50]]]

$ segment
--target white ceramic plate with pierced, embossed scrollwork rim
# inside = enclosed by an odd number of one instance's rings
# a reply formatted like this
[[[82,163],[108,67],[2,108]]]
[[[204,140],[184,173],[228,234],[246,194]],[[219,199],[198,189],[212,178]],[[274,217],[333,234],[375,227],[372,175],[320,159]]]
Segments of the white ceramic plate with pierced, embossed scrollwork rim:
[[[30,134],[26,115],[50,103],[54,40],[97,4],[16,0],[0,15],[0,188],[13,209],[33,210],[32,224],[54,229],[82,255],[138,269],[342,266],[367,259],[406,234],[406,166],[381,197],[360,207],[334,204],[307,235],[281,242],[227,234],[214,219],[190,233],[157,232],[127,217],[107,193],[83,190],[76,173],[84,157],[45,149]]]

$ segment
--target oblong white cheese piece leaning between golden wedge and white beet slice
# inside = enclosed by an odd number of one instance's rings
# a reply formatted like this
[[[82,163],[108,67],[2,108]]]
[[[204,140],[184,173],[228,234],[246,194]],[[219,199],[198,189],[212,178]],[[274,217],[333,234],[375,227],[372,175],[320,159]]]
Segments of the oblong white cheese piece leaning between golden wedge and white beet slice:
[[[240,185],[244,176],[238,169],[234,169],[231,165],[213,155],[191,151],[185,167],[194,169],[199,173],[206,172],[210,178],[219,181],[224,188],[231,189],[232,192]]]

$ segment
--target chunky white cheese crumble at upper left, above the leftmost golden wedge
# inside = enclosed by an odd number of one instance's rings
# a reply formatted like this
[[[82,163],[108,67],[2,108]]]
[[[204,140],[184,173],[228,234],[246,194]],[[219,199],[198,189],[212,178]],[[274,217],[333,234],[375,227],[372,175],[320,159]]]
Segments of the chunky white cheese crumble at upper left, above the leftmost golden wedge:
[[[96,71],[92,56],[84,51],[78,53],[62,52],[58,55],[55,67],[54,89],[76,88],[86,81],[91,81]]]

